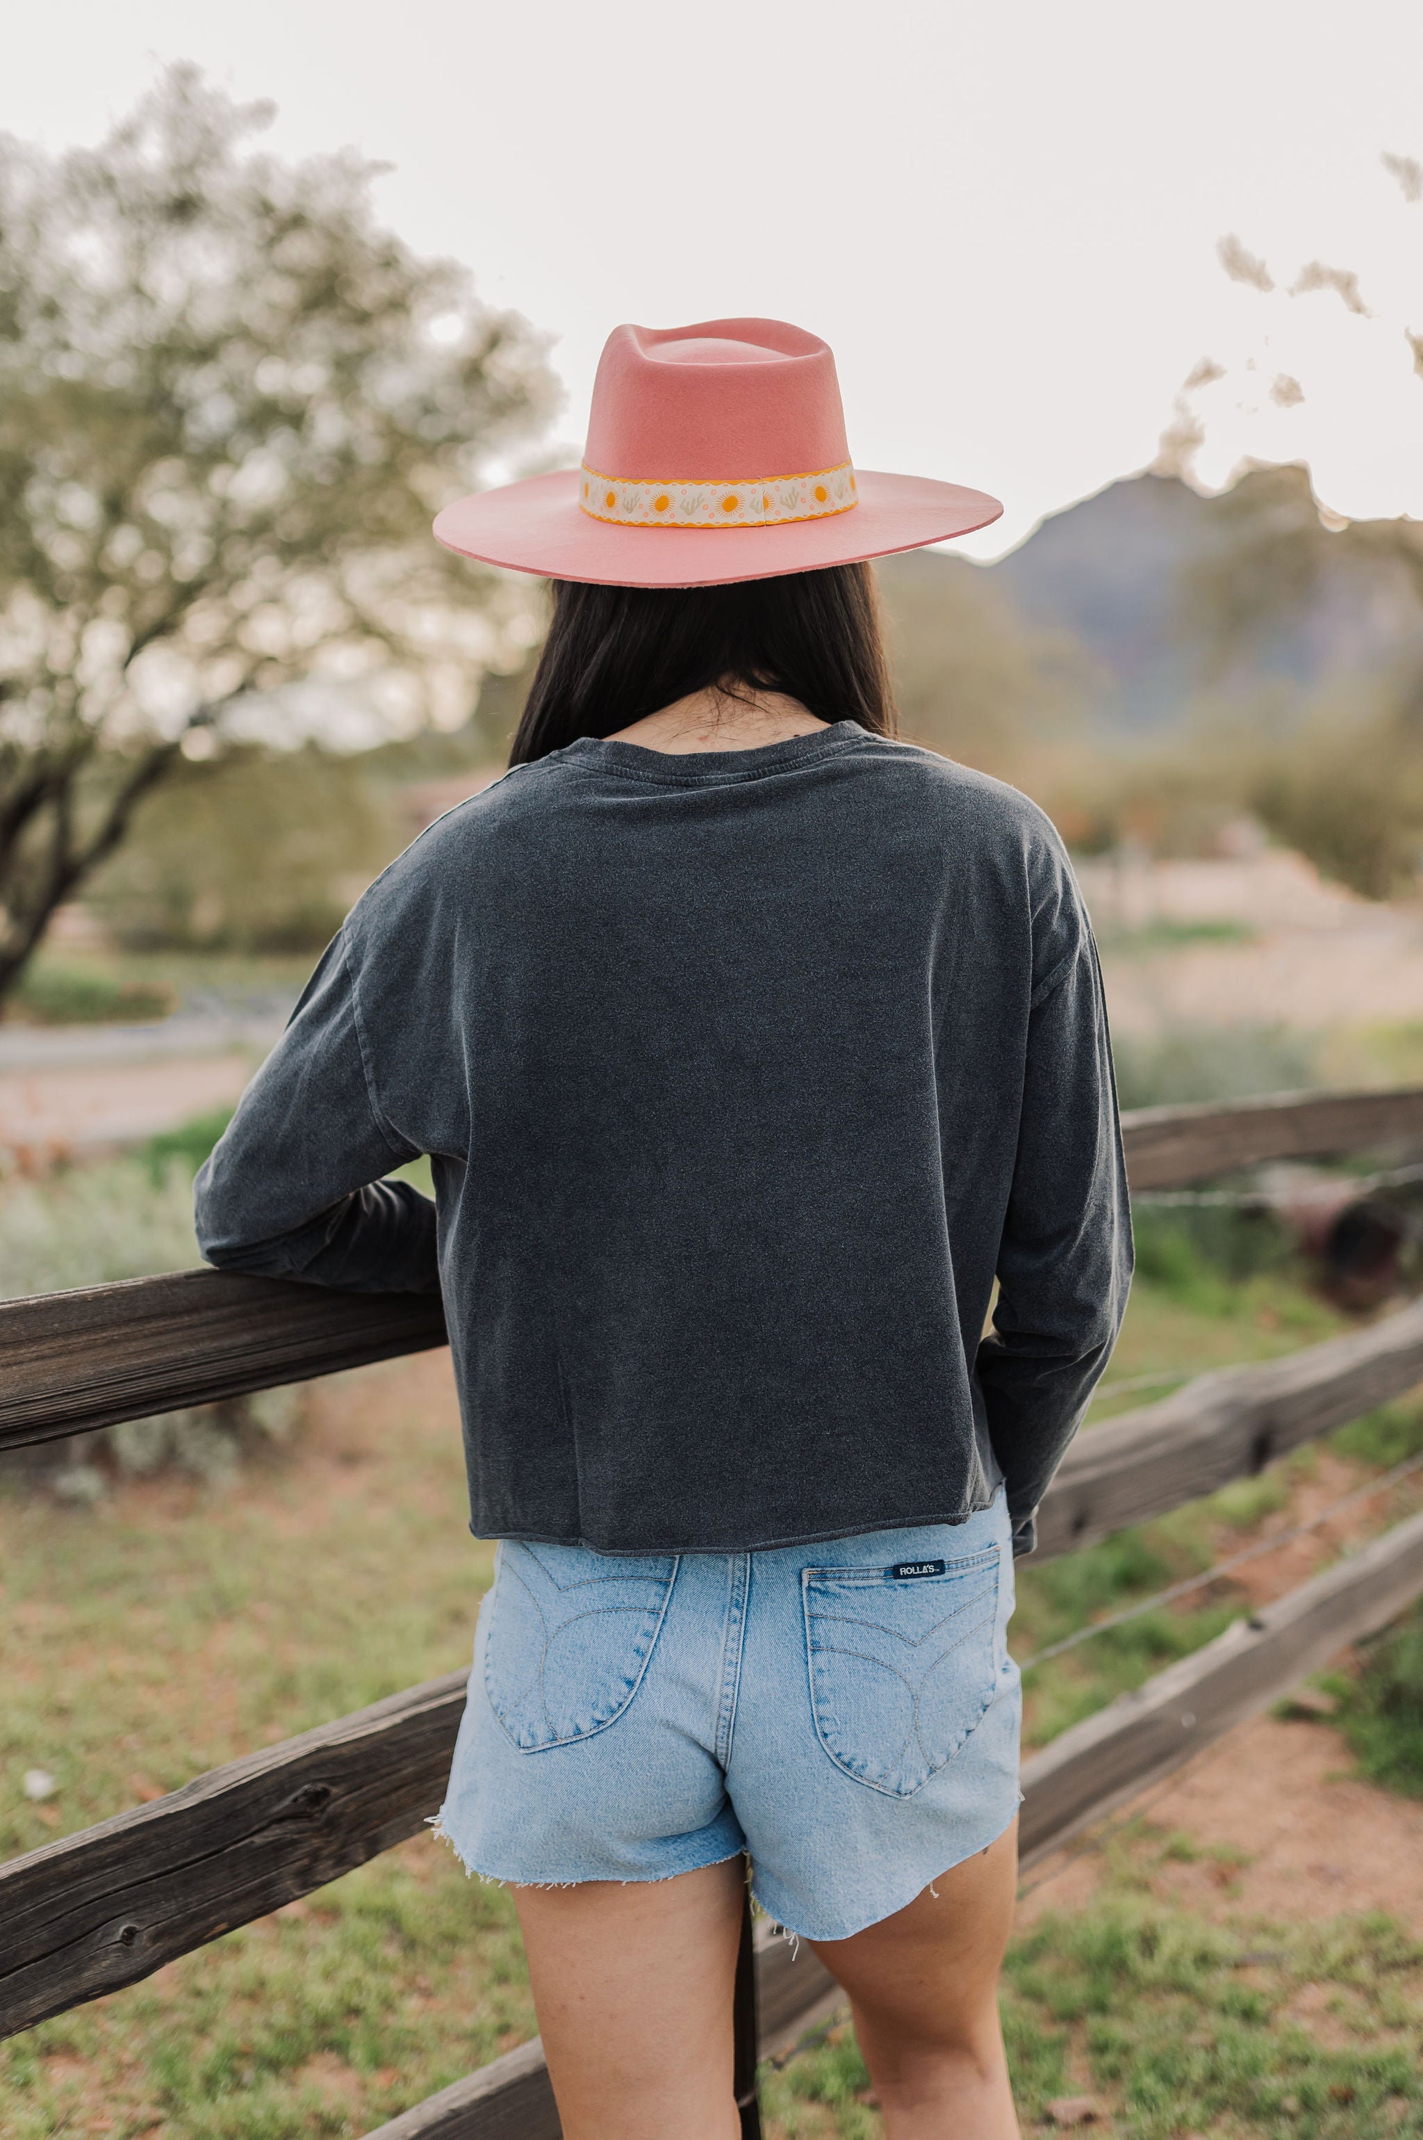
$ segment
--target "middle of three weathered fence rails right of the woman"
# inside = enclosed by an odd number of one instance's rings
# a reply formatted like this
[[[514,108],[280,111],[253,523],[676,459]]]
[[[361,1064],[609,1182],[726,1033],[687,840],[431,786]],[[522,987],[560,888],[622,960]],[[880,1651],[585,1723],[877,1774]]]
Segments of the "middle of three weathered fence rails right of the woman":
[[[1196,1376],[1170,1397],[1078,1434],[1038,1511],[1038,1552],[1070,1554],[1254,1477],[1417,1382],[1423,1301],[1284,1359]]]

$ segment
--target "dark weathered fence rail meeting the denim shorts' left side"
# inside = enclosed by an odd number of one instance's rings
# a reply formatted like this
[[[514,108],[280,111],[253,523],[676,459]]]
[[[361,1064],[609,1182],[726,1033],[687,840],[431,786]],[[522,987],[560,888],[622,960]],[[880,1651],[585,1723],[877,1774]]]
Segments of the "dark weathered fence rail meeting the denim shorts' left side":
[[[0,2035],[137,1984],[439,1810],[466,1673],[389,1695],[0,1866]]]

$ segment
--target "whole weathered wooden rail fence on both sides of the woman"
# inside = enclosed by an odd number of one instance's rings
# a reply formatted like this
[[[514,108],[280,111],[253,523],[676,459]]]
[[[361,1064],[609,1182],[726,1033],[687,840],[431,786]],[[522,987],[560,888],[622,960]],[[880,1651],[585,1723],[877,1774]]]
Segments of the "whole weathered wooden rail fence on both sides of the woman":
[[[1307,1094],[1123,1119],[1132,1186],[1423,1138],[1423,1089]],[[392,1359],[445,1342],[439,1303],[182,1271],[0,1305],[0,1449]],[[1040,1554],[1209,1494],[1423,1380],[1423,1301],[1280,1361],[1205,1374],[1083,1434],[1040,1515]],[[1423,1515],[1241,1620],[1023,1768],[1031,1862],[1170,1772],[1423,1592]],[[0,1866],[0,2035],[120,1990],[417,1834],[443,1798],[466,1673],[449,1673],[197,1776]],[[758,2057],[839,2001],[809,1950],[743,1926],[736,2089],[758,2134]],[[556,2140],[539,2044],[370,2140]]]

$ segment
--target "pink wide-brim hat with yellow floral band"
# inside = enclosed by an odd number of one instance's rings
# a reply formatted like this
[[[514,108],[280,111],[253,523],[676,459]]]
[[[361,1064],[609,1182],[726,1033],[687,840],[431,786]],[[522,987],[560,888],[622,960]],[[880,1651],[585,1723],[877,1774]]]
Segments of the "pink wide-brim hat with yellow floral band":
[[[783,319],[614,327],[580,469],[447,505],[447,550],[610,586],[710,586],[969,535],[997,499],[856,469],[826,342]]]

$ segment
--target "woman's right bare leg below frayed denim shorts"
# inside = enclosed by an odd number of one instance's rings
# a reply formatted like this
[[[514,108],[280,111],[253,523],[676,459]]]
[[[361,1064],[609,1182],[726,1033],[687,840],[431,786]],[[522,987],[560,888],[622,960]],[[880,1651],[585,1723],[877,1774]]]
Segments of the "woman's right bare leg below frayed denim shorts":
[[[1019,2140],[997,2020],[1019,1823],[854,1939],[815,1941],[850,1992],[886,2140]]]

